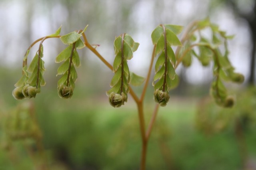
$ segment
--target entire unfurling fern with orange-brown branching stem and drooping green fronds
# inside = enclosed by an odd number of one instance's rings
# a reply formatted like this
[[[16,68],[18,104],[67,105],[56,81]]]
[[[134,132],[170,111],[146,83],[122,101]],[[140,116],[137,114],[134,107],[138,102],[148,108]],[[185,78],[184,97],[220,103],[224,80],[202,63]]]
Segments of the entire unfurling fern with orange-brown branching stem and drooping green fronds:
[[[136,102],[138,107],[140,132],[142,138],[142,152],[140,169],[146,167],[146,150],[148,140],[154,121],[156,119],[159,106],[166,106],[170,96],[169,91],[177,87],[179,77],[176,74],[176,68],[182,63],[184,67],[189,67],[192,63],[192,57],[197,58],[202,66],[208,66],[213,63],[214,79],[210,87],[210,94],[218,105],[223,107],[232,107],[234,99],[228,95],[228,91],[223,81],[232,81],[242,83],[244,76],[234,72],[228,59],[227,41],[233,36],[227,36],[226,32],[220,30],[217,25],[212,24],[210,20],[193,22],[184,32],[181,39],[178,38],[183,30],[183,26],[170,24],[161,24],[157,26],[152,34],[152,43],[154,45],[149,69],[146,78],[130,72],[128,60],[132,59],[133,53],[138,49],[139,43],[134,42],[133,38],[124,33],[114,40],[114,63],[108,63],[100,53],[86,39],[86,28],[60,36],[61,27],[52,35],[45,36],[33,42],[27,49],[23,59],[22,77],[15,84],[12,95],[15,99],[25,99],[36,97],[40,93],[44,81],[44,61],[42,43],[48,38],[60,38],[62,43],[68,45],[66,49],[56,57],[56,63],[62,63],[57,70],[57,75],[61,75],[58,81],[58,95],[61,98],[71,98],[74,93],[75,82],[78,78],[76,67],[81,65],[77,49],[87,47],[92,51],[110,70],[114,72],[110,83],[110,90],[106,92],[110,105],[121,107],[127,102],[128,93]],[[203,36],[202,31],[210,30],[212,38]],[[30,65],[27,65],[27,57],[32,46],[40,42],[39,49]],[[173,46],[177,46],[174,52]],[[223,50],[224,49],[224,50]],[[154,65],[154,60],[156,62]],[[150,75],[154,65],[155,75],[152,85],[154,93],[152,97],[156,101],[155,109],[148,127],[144,119],[144,97],[150,81]],[[140,96],[136,95],[130,85],[143,85]]]

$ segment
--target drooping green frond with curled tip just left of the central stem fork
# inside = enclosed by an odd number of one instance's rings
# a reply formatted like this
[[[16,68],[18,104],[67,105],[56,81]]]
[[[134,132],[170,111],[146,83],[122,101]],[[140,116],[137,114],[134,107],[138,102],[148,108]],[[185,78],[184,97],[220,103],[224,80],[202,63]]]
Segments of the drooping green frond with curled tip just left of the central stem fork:
[[[127,93],[129,92],[129,83],[131,80],[127,60],[132,59],[133,52],[138,49],[139,43],[134,42],[128,34],[121,34],[114,41],[114,51],[116,57],[114,59],[113,71],[114,77],[110,82],[107,95],[109,102],[113,107],[120,107],[127,101]],[[140,85],[144,78],[132,73],[132,84]]]

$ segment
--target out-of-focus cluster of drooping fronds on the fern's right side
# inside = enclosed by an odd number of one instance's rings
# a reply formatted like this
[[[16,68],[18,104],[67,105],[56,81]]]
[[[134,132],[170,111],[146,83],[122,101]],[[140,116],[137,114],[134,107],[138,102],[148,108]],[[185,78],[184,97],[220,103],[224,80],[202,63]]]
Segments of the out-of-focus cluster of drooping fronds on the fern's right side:
[[[211,39],[201,34],[206,29],[211,31]],[[183,39],[185,48],[180,49],[176,57],[182,61],[185,67],[191,65],[192,56],[196,57],[203,66],[208,66],[213,61],[214,80],[212,81],[210,94],[218,105],[232,107],[234,99],[228,95],[223,81],[235,83],[242,83],[244,81],[244,76],[234,72],[234,67],[228,59],[227,41],[232,39],[233,36],[227,36],[226,32],[219,30],[218,26],[212,24],[208,18],[195,22],[186,35]],[[199,51],[198,53],[196,53],[196,47]],[[224,49],[223,53],[221,49]]]

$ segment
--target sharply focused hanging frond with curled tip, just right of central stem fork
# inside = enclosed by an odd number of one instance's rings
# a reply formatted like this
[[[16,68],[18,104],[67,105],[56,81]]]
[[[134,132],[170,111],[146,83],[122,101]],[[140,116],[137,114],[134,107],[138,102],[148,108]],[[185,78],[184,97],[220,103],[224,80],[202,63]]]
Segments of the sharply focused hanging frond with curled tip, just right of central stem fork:
[[[151,34],[152,42],[156,45],[156,55],[160,53],[155,64],[153,85],[154,100],[161,106],[166,106],[169,90],[178,84],[178,76],[174,69],[176,57],[171,45],[182,46],[176,35],[182,29],[182,26],[160,25]]]

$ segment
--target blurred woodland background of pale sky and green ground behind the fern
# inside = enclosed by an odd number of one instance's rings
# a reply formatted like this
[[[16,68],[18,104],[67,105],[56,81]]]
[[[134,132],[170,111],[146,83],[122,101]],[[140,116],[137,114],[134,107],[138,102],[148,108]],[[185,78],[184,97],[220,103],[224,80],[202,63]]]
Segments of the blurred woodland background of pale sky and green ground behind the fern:
[[[34,40],[84,29],[89,43],[107,61],[114,61],[115,36],[127,33],[140,46],[129,61],[130,70],[146,76],[153,49],[151,32],[159,24],[186,26],[209,17],[229,35],[230,61],[245,76],[242,85],[228,84],[237,105],[222,109],[208,99],[212,68],[194,59],[188,69],[178,67],[181,81],[161,108],[148,148],[147,168],[256,169],[256,2],[254,0],[0,0],[0,169],[33,169],[27,152],[31,141],[8,138],[6,122],[13,114],[33,112],[42,131],[47,162],[53,170],[138,169],[140,132],[131,98],[122,108],[108,104],[106,91],[113,75],[88,49],[79,51],[82,66],[72,99],[57,94],[55,57],[65,48],[60,40],[44,42],[46,86],[30,101],[12,97],[21,76],[22,59]],[[31,61],[37,45],[30,51]],[[141,87],[135,91],[140,94]],[[146,118],[154,109],[153,88],[146,95]],[[30,107],[34,108],[31,111]],[[23,117],[22,120],[26,120]],[[32,143],[32,146],[33,143]],[[24,149],[25,148],[25,149]],[[32,148],[32,151],[35,148]],[[13,159],[11,153],[17,156]],[[34,157],[34,156],[32,156]]]

